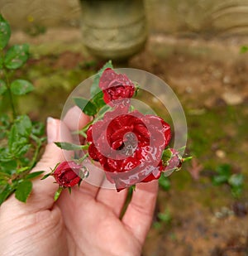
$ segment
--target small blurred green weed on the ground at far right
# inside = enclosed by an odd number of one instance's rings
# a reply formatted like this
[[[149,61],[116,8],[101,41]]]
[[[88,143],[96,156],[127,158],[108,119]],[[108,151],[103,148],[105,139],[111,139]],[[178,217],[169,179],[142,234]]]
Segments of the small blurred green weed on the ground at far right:
[[[217,167],[216,175],[212,177],[212,184],[219,186],[228,184],[234,197],[241,196],[244,176],[241,173],[231,173],[231,165],[222,164]]]

